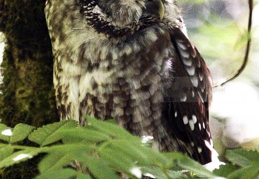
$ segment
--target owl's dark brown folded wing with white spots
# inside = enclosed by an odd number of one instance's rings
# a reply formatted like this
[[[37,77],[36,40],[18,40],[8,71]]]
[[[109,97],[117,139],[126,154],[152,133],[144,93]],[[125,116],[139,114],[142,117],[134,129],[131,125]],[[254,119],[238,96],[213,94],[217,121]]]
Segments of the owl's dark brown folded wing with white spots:
[[[177,55],[169,69],[173,95],[168,104],[169,126],[182,150],[207,164],[214,155],[217,157],[208,124],[211,75],[198,50],[179,28],[173,29],[171,41]]]

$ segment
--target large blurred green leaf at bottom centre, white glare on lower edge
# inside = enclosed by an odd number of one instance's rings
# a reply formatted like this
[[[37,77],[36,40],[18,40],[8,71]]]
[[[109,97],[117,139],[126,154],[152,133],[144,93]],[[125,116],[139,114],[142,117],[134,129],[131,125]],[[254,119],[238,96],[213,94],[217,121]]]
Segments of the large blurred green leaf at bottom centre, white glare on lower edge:
[[[165,167],[171,161],[159,154],[157,151],[144,147],[136,140],[110,140],[104,142],[97,150],[100,158],[109,163],[114,170],[128,175],[130,178],[134,176],[134,169],[149,168],[153,166]],[[142,173],[143,174],[143,173]],[[159,175],[163,176],[163,175]]]

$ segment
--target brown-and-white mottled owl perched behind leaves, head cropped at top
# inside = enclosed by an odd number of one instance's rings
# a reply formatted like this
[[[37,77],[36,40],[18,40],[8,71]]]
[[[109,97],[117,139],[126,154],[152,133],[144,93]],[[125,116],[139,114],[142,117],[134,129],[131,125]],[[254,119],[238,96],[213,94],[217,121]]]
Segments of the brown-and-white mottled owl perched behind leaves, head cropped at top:
[[[48,0],[60,120],[115,118],[153,148],[218,162],[212,79],[175,0]]]

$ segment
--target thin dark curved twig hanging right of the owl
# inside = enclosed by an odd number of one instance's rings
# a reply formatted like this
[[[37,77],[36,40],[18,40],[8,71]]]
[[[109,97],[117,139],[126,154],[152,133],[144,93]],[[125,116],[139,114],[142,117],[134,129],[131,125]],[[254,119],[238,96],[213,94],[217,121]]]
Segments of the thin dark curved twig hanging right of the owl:
[[[251,28],[252,28],[253,7],[254,7],[253,0],[249,0],[248,41],[247,41],[246,55],[245,55],[243,64],[234,74],[232,74],[228,78],[224,78],[224,79],[220,80],[220,81],[223,81],[223,82],[218,82],[217,84],[214,84],[213,87],[222,86],[225,83],[237,78],[244,71],[245,67],[247,66],[248,56],[249,56],[249,51],[250,51],[250,46],[251,46]]]

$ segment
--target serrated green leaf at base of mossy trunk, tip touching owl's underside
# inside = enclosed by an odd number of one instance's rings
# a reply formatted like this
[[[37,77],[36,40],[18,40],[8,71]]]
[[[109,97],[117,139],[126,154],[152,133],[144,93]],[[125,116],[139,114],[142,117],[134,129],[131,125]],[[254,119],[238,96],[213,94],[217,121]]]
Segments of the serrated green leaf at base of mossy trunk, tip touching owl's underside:
[[[64,129],[77,127],[78,124],[74,120],[61,121],[53,124],[43,126],[33,131],[28,139],[32,142],[39,144],[41,147],[52,144],[61,140],[63,136],[58,133]]]

